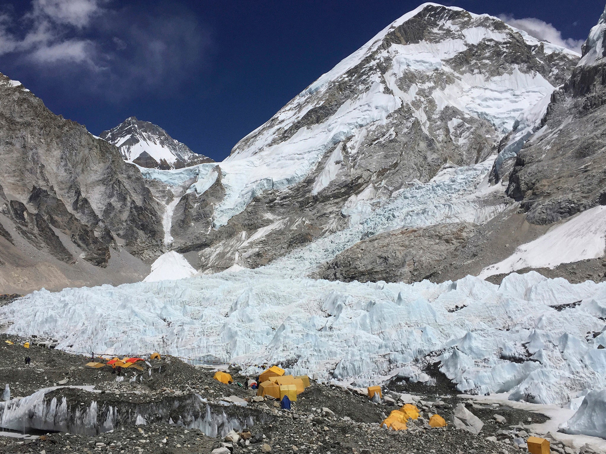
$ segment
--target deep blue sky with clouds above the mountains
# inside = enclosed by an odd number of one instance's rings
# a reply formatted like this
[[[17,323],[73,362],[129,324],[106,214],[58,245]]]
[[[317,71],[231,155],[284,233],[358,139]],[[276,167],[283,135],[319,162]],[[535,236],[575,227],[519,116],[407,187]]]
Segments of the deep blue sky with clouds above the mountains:
[[[134,115],[221,160],[318,76],[419,4],[5,1],[0,72],[93,134]],[[604,10],[604,0],[445,4],[541,19],[574,40],[587,38]]]

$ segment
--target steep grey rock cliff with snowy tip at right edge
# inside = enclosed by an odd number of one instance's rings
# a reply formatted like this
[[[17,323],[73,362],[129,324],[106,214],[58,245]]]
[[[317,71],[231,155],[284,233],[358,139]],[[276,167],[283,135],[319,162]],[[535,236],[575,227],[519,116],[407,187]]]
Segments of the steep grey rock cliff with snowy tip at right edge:
[[[606,12],[581,63],[551,97],[541,130],[516,157],[507,194],[529,222],[548,224],[606,204],[606,61],[599,47],[605,21]]]

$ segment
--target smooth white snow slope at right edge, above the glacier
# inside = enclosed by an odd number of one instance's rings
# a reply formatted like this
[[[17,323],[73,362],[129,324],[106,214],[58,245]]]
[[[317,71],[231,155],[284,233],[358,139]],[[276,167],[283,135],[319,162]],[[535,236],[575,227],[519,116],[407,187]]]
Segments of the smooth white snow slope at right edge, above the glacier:
[[[553,226],[538,239],[519,246],[499,263],[479,274],[487,278],[522,268],[555,268],[561,263],[599,258],[606,248],[606,206],[596,206]]]

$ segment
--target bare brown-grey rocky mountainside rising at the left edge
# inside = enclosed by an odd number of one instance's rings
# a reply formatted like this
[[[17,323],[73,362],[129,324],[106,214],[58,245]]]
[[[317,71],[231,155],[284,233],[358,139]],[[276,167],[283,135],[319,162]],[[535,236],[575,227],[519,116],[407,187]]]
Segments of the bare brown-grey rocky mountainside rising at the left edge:
[[[0,288],[140,279],[162,226],[136,166],[2,74],[0,134]]]

